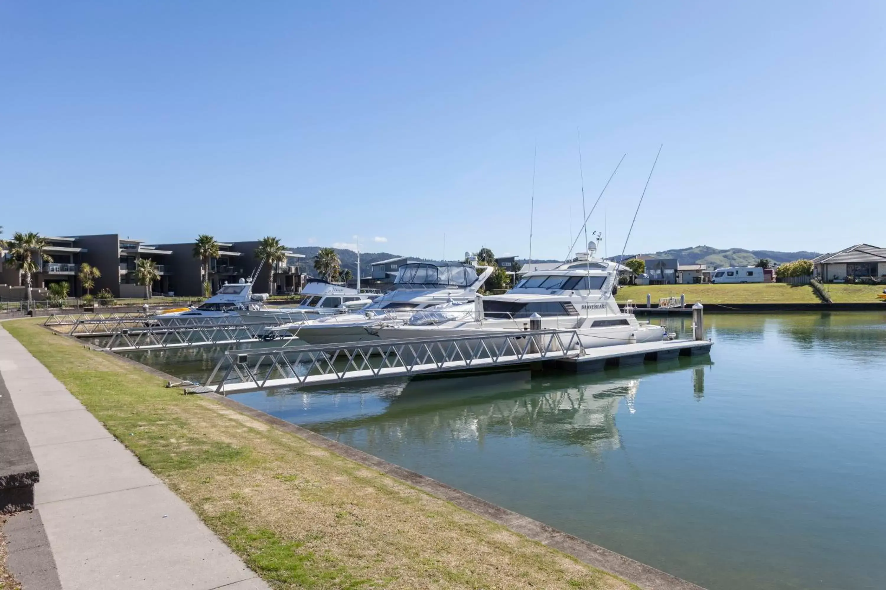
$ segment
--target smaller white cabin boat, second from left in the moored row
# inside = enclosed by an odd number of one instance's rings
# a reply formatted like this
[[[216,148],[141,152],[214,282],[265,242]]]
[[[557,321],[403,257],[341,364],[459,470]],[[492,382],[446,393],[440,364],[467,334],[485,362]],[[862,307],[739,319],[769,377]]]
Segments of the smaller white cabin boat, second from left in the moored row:
[[[296,307],[263,306],[260,309],[237,310],[237,313],[245,324],[267,324],[268,319],[275,319],[281,323],[307,321],[361,310],[372,303],[380,293],[311,278],[301,289],[301,295],[304,295],[304,299]]]

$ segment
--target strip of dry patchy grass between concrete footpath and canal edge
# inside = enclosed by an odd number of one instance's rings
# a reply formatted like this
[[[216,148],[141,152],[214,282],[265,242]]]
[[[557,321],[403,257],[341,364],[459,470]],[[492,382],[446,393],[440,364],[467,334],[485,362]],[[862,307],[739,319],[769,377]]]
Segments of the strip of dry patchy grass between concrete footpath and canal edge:
[[[635,588],[54,335],[4,327],[276,588]]]

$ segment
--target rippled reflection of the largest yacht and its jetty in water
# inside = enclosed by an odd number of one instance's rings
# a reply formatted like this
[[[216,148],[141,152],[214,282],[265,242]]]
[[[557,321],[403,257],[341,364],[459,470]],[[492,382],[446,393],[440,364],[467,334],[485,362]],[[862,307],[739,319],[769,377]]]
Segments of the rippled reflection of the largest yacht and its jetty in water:
[[[710,360],[682,358],[662,369],[694,366],[691,382],[700,399],[703,366],[708,364]],[[621,447],[616,416],[619,411],[637,411],[643,374],[649,371],[624,369],[600,376],[549,377],[511,372],[392,382],[359,394],[344,390],[326,390],[319,395],[268,392],[261,394],[265,402],[259,405],[279,418],[388,457],[416,446],[437,452],[447,448],[447,441],[476,441],[482,447],[489,436],[530,436],[574,445],[598,456]],[[243,401],[253,407],[260,402],[256,395]]]

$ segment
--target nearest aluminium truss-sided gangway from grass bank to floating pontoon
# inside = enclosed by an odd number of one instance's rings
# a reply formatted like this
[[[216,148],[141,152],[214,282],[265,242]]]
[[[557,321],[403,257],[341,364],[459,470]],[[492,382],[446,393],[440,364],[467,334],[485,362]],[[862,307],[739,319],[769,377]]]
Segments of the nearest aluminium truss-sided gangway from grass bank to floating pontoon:
[[[229,350],[215,365],[206,386],[198,387],[194,393],[213,390],[219,394],[234,394],[276,387],[337,385],[365,379],[494,370],[509,365],[574,358],[583,353],[575,330]]]

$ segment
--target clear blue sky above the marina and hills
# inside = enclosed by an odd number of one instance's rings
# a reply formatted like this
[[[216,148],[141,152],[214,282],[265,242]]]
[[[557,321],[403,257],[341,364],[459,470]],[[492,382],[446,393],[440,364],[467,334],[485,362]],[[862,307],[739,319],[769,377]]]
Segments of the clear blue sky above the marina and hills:
[[[423,257],[886,245],[882,2],[0,4],[0,225]],[[570,219],[570,211],[572,218]],[[379,239],[379,240],[377,240]],[[386,241],[383,241],[384,239]]]

